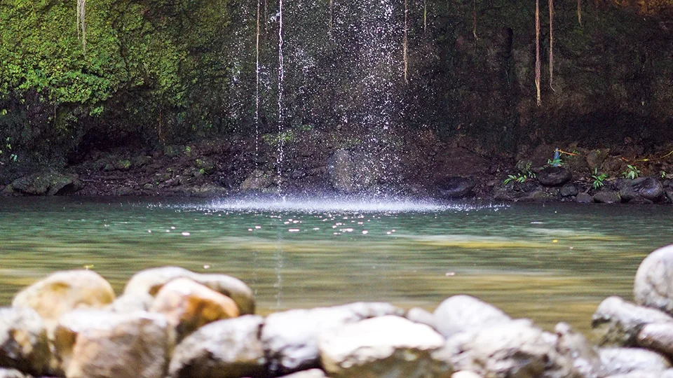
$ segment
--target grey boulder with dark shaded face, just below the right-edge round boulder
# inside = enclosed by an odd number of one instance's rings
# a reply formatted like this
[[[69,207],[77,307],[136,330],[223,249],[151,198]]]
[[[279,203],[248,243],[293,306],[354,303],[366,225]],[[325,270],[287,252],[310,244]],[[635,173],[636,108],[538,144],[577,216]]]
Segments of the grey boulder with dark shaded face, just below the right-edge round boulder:
[[[620,297],[608,297],[592,317],[592,328],[599,335],[599,344],[635,346],[641,328],[650,323],[670,323],[673,318],[657,309],[637,306]]]

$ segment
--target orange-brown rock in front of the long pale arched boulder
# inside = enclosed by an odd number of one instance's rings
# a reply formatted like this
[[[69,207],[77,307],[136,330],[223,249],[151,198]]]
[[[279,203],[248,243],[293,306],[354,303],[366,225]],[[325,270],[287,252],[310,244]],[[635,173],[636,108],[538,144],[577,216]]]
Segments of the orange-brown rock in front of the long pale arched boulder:
[[[164,314],[179,339],[212,321],[235,318],[238,307],[230,297],[191,279],[174,279],[156,294],[150,311]]]

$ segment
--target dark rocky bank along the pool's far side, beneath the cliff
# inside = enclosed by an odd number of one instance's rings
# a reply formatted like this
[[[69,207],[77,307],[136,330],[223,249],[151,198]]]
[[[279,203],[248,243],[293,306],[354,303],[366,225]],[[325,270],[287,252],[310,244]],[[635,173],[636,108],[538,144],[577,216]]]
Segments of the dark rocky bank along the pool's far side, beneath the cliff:
[[[273,141],[255,144],[249,137],[155,150],[90,151],[62,169],[0,174],[6,183],[0,191],[10,196],[320,193],[503,202],[673,203],[673,163],[667,161],[667,148],[646,154],[632,144],[541,145],[521,146],[517,153],[503,155],[471,139],[441,141],[433,133],[419,132],[400,137],[407,145],[369,151],[350,139],[307,133],[285,144],[282,162]],[[555,155],[556,151],[560,153]]]

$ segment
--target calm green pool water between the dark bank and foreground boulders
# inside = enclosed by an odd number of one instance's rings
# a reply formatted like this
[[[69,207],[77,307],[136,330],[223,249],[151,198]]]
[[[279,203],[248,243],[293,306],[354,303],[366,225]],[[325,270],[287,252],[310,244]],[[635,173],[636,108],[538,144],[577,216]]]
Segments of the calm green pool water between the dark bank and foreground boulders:
[[[673,242],[665,206],[0,201],[2,304],[59,269],[90,267],[121,293],[140,269],[179,265],[243,279],[263,314],[356,300],[432,310],[467,293],[586,331],[597,304],[630,299],[639,262]]]

